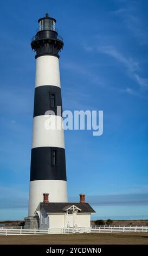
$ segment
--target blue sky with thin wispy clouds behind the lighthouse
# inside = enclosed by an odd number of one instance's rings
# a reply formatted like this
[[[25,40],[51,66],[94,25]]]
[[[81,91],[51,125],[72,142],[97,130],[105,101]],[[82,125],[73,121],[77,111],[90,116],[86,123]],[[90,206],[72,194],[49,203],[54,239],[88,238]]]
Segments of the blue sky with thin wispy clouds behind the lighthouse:
[[[104,111],[104,133],[65,131],[69,201],[93,218],[148,218],[148,2],[1,3],[0,220],[27,216],[37,20],[55,17],[63,109]]]

